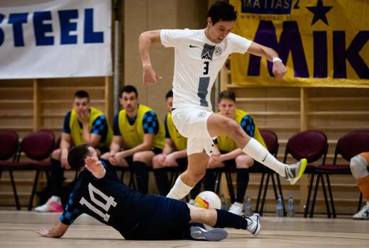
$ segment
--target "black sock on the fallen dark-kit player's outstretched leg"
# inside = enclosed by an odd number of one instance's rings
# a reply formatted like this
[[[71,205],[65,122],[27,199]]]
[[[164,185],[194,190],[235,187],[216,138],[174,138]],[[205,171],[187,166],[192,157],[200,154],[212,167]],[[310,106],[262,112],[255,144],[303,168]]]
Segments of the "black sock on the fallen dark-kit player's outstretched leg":
[[[239,215],[229,213],[226,210],[216,209],[216,223],[214,227],[232,227],[236,229],[246,230],[248,223],[247,220]]]

